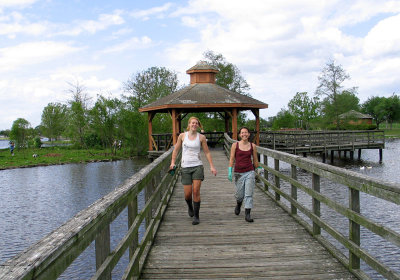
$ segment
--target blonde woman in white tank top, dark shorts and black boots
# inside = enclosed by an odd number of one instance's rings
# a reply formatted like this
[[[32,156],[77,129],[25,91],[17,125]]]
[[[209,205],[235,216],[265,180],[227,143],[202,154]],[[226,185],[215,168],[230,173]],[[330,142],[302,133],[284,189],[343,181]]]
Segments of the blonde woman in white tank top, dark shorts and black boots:
[[[197,132],[198,128],[202,128],[200,120],[196,117],[191,117],[188,121],[187,131],[181,133],[176,142],[170,169],[175,167],[175,160],[178,151],[182,147],[182,185],[185,193],[185,200],[188,205],[188,213],[193,217],[193,225],[200,223],[200,187],[204,180],[203,163],[200,159],[200,148],[210,163],[210,171],[214,176],[217,176],[217,170],[212,162],[211,153],[208,149],[207,139],[204,135]],[[192,203],[193,202],[193,203]]]

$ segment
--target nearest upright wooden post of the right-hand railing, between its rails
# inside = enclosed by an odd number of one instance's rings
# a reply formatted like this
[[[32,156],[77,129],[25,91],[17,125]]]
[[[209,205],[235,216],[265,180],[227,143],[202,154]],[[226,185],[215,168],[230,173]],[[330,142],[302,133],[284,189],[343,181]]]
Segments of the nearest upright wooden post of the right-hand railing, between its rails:
[[[351,188],[349,194],[349,208],[360,213],[360,191]],[[349,220],[349,237],[353,243],[360,246],[360,225],[352,220]],[[351,251],[349,251],[349,266],[351,269],[360,268],[360,258]]]

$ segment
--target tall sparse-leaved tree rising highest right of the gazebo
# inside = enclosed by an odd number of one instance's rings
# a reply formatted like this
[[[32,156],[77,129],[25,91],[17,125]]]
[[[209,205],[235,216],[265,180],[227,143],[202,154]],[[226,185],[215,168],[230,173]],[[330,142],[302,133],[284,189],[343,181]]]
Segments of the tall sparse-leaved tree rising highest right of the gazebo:
[[[338,95],[342,93],[342,83],[350,79],[341,65],[335,65],[334,61],[328,62],[322,70],[322,74],[318,77],[319,85],[316,90],[317,96],[325,96],[324,104],[330,104],[333,113],[333,120],[339,128],[340,103]],[[356,88],[347,90],[356,93]]]

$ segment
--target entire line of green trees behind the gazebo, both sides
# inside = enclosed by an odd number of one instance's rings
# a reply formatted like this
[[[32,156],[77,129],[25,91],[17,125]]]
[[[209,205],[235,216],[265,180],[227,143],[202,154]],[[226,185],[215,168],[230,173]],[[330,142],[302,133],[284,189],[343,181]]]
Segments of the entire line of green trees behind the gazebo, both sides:
[[[219,70],[216,75],[218,85],[250,96],[250,86],[235,65],[213,51],[207,51],[203,56],[204,60]],[[393,123],[400,119],[399,96],[372,96],[360,104],[356,87],[343,88],[343,82],[349,78],[341,65],[329,61],[318,76],[319,85],[314,96],[297,92],[288,102],[287,109],[282,108],[268,120],[261,118],[262,130],[372,129],[379,128],[383,121]],[[78,81],[68,83],[70,99],[65,103],[49,103],[42,111],[38,127],[32,128],[27,120],[19,118],[14,121],[11,130],[1,131],[0,134],[9,135],[18,148],[40,146],[39,136],[45,136],[51,141],[60,137],[68,138],[76,148],[111,149],[114,152],[115,144],[122,142],[131,155],[144,154],[148,146],[147,115],[140,113],[139,108],[183,87],[179,86],[176,72],[165,67],[150,67],[132,74],[122,83],[123,94],[120,98],[98,94],[93,101],[83,84]],[[371,115],[375,124],[349,127],[340,119],[340,115],[350,110]],[[196,116],[206,130],[225,129],[223,118],[218,113],[197,113]],[[243,112],[239,114],[238,125],[255,129],[255,121],[247,119]],[[156,114],[153,131],[171,133],[170,116]]]

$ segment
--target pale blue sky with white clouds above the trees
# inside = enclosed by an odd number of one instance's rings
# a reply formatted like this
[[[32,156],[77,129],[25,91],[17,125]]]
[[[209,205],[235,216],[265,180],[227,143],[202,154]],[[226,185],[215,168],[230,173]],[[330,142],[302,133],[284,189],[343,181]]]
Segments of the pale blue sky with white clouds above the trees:
[[[0,130],[40,124],[71,85],[118,97],[123,83],[222,54],[276,115],[297,92],[314,96],[329,61],[358,98],[400,94],[400,0],[0,0]],[[251,118],[251,114],[249,117]]]

